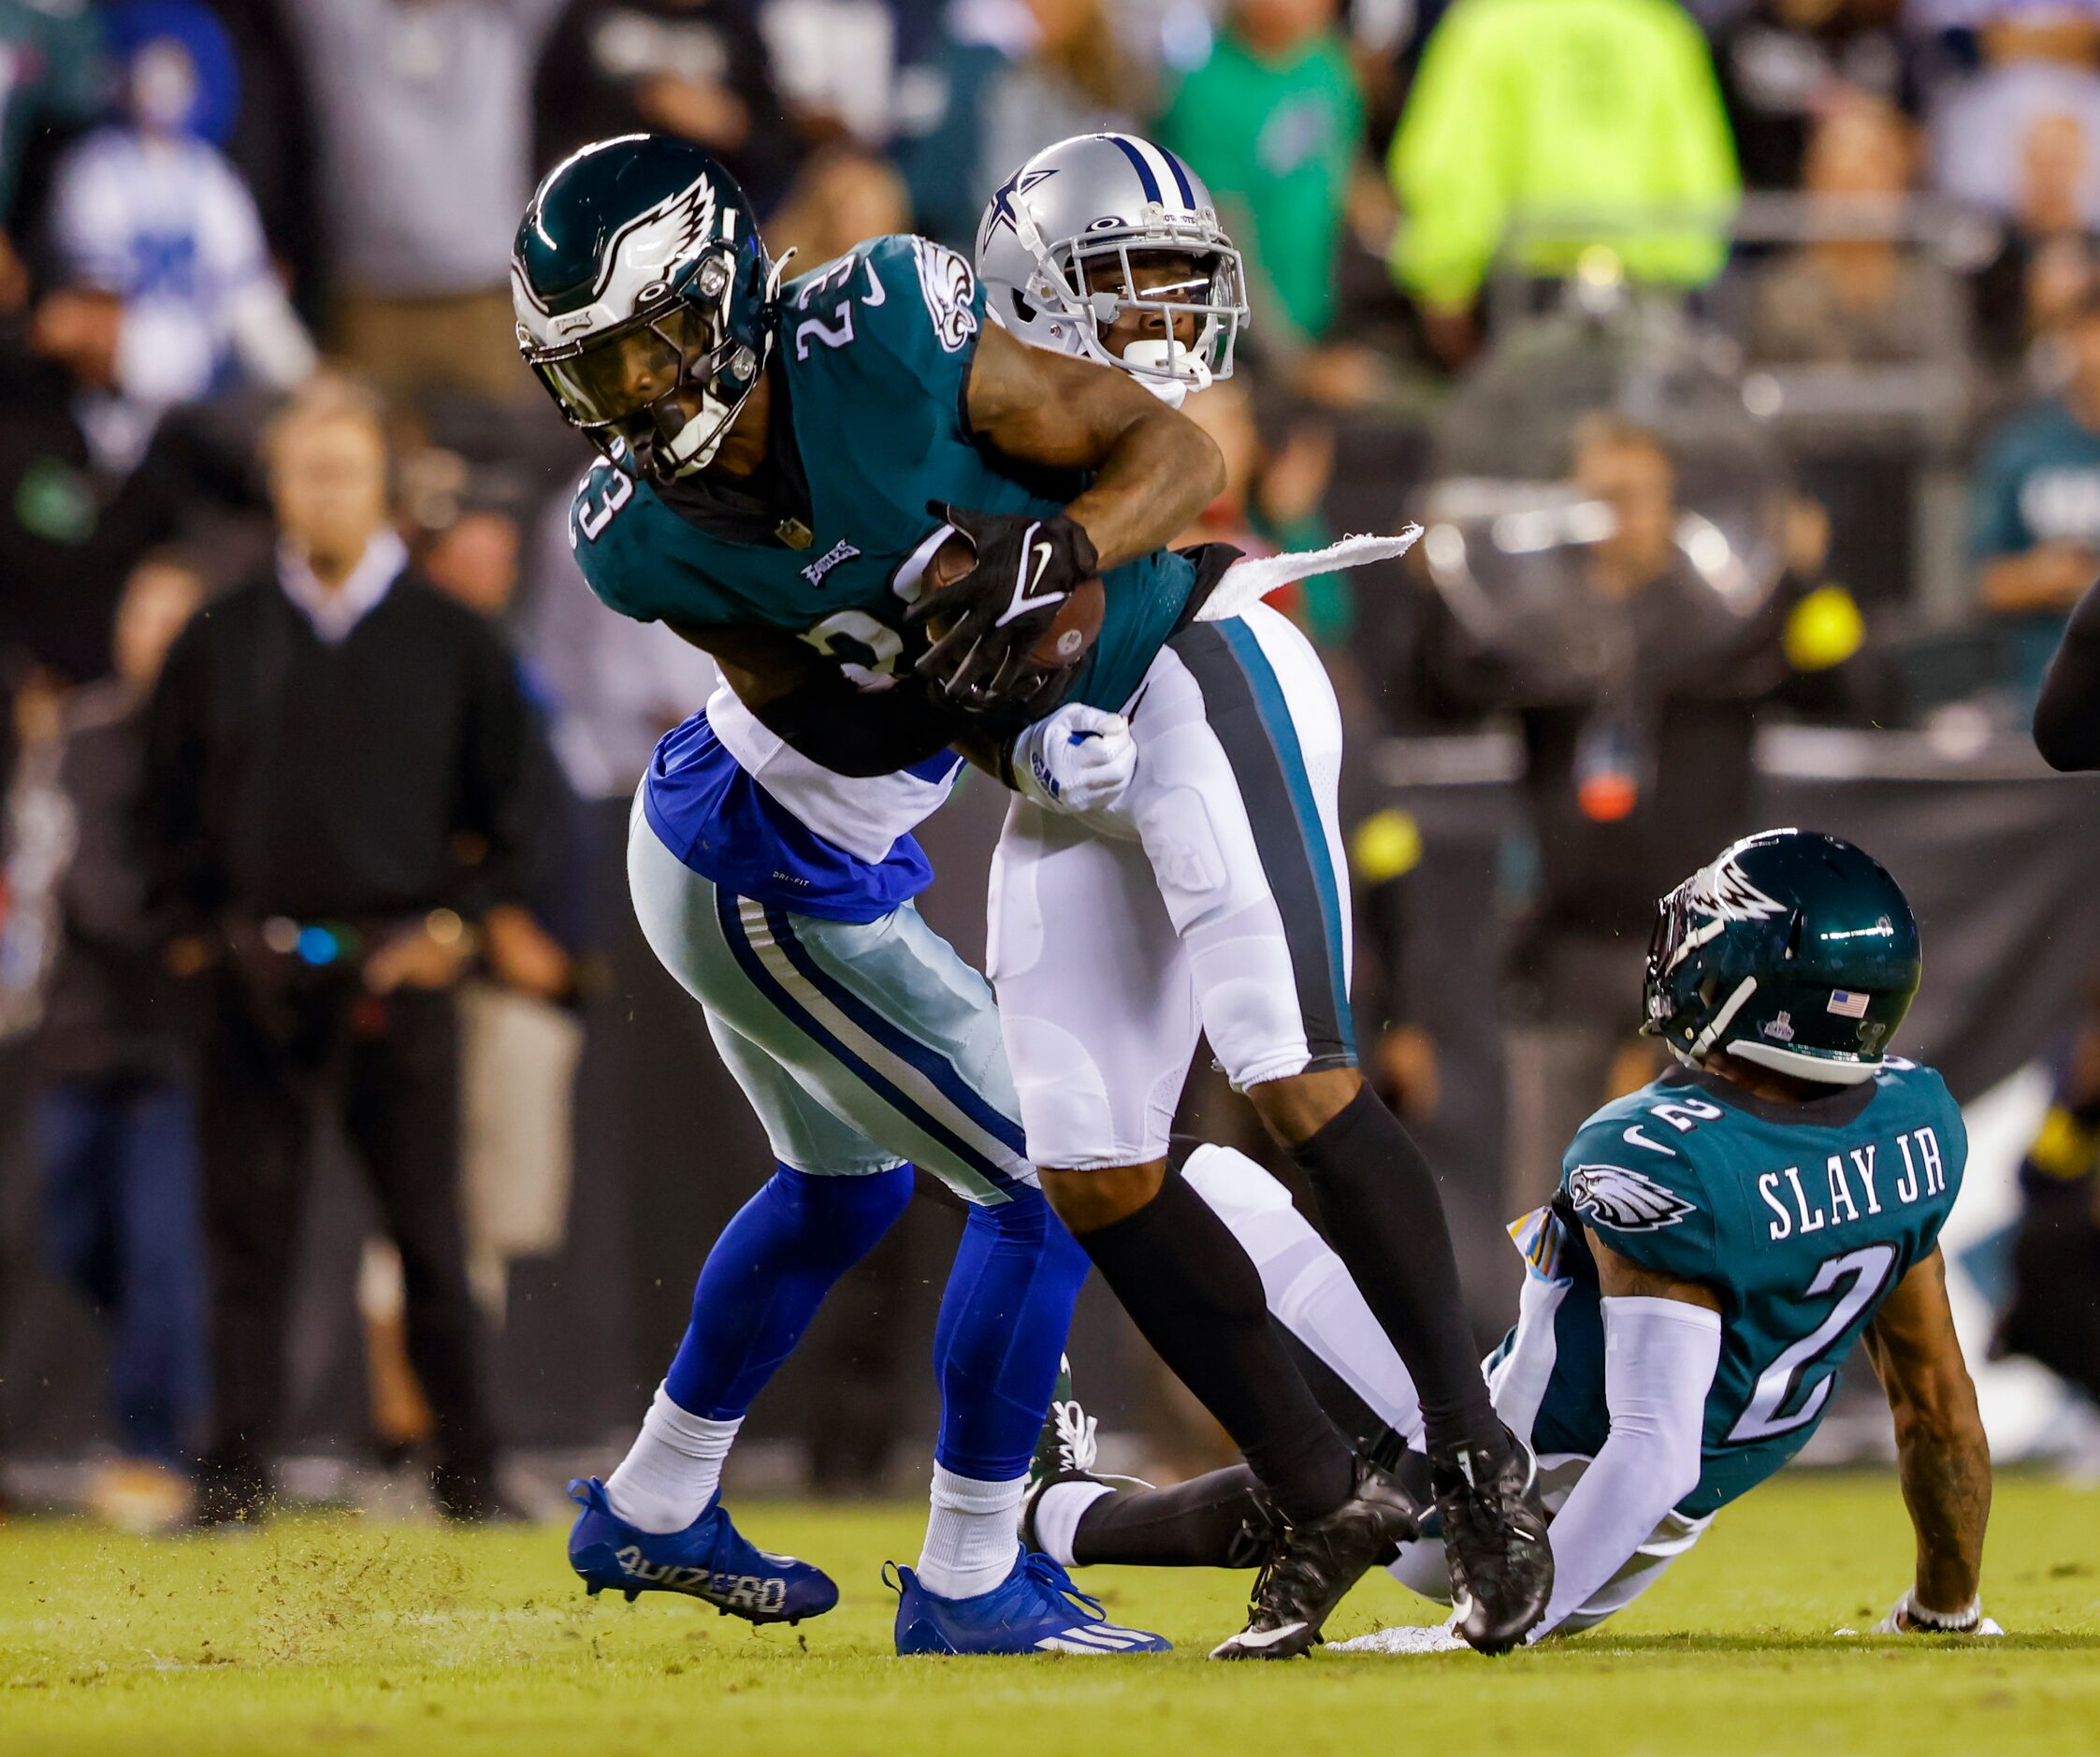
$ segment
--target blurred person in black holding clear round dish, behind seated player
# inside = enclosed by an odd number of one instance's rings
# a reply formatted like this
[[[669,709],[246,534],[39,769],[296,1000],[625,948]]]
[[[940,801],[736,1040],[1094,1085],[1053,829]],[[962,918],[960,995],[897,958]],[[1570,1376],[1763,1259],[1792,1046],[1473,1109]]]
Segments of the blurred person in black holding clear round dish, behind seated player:
[[[1840,586],[1816,584],[1827,525],[1789,512],[1789,567],[1732,638],[1684,638],[1712,594],[1678,550],[1676,466],[1646,428],[1590,416],[1575,428],[1573,487],[1611,514],[1586,550],[1588,590],[1632,630],[1600,680],[1529,676],[1464,640],[1441,602],[1418,649],[1432,712],[1512,712],[1537,877],[1510,947],[1510,1186],[1550,1197],[1583,1119],[1653,1079],[1638,1037],[1640,949],[1655,901],[1739,835],[1751,814],[1751,743],[1779,701],[1850,718],[1873,693],[1865,626]],[[1600,619],[1602,621],[1602,619]]]

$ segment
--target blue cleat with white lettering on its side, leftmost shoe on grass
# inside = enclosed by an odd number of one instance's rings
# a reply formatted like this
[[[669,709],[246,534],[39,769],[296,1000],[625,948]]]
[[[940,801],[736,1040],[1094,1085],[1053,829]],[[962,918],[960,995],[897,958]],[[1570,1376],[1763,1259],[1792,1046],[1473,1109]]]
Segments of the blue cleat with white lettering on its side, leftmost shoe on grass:
[[[720,1495],[685,1530],[662,1534],[622,1520],[594,1476],[571,1482],[569,1499],[584,1509],[569,1530],[569,1566],[592,1597],[607,1587],[628,1604],[643,1593],[685,1593],[746,1623],[800,1623],[838,1604],[838,1583],[823,1568],[746,1541]]]

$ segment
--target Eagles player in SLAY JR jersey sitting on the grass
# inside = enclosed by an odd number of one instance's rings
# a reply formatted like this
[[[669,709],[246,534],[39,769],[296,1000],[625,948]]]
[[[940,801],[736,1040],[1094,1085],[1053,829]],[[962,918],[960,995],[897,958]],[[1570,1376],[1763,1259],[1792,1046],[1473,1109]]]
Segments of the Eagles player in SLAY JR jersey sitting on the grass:
[[[1751,835],[1661,901],[1644,1031],[1684,1066],[1583,1123],[1554,1203],[1510,1228],[1520,1316],[1487,1377],[1554,1507],[1531,1639],[1655,1585],[1808,1442],[1861,1337],[1917,1530],[1882,1631],[1999,1633],[1978,1597],[1991,1455],[1938,1249],[1968,1136],[1940,1077],[1886,1054],[1917,976],[1903,890],[1833,835]],[[1342,1419],[1418,1446],[1407,1369],[1283,1186],[1216,1148],[1184,1176],[1331,1369]],[[1025,1541],[1065,1564],[1260,1562],[1273,1516],[1243,1472],[1119,1495],[1079,1467],[1090,1423],[1054,1415],[1063,1467],[1033,1490]],[[1438,1549],[1426,1530],[1392,1572],[1441,1600]]]

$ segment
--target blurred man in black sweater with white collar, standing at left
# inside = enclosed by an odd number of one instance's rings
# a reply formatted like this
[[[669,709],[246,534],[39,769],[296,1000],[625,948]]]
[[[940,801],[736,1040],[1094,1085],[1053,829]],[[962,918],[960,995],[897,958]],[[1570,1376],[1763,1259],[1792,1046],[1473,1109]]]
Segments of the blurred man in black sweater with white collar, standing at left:
[[[254,1516],[269,1490],[323,1110],[401,1253],[439,1507],[502,1516],[460,1239],[452,989],[481,924],[529,894],[540,731],[502,642],[407,567],[368,395],[336,380],[300,393],[267,462],[277,565],[183,632],[147,745],[174,949],[208,961],[214,1423],[200,1518]]]

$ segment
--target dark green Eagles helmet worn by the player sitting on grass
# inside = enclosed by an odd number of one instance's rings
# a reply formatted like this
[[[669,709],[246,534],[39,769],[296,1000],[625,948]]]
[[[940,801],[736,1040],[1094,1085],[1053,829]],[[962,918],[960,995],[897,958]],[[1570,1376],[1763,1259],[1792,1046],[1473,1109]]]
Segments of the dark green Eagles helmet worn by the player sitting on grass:
[[[1642,1031],[1680,1062],[1720,1047],[1856,1085],[1917,993],[1917,917],[1903,886],[1835,835],[1745,835],[1655,911]]]

